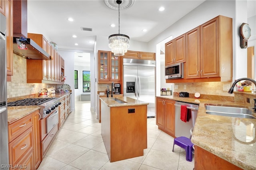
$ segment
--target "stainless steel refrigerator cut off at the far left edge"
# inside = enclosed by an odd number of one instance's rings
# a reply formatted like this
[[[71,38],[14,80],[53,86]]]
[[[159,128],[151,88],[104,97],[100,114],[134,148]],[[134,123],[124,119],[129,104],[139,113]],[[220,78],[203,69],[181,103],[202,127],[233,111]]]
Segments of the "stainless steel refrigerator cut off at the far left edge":
[[[0,13],[0,169],[9,169],[6,98],[6,17]]]

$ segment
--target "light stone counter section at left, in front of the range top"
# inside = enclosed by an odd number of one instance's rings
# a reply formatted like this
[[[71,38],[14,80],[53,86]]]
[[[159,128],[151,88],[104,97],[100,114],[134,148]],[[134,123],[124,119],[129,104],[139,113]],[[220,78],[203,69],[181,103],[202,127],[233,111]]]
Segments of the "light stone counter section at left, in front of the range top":
[[[22,119],[23,117],[39,110],[38,106],[17,106],[17,107],[7,107],[7,120],[8,125]]]

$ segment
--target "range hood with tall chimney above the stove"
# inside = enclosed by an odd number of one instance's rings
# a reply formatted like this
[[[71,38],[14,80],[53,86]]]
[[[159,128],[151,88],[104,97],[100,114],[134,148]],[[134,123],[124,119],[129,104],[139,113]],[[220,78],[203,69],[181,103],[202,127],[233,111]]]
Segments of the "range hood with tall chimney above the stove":
[[[13,1],[13,53],[26,59],[50,60],[50,55],[28,36],[27,0]],[[18,48],[17,40],[26,40],[26,48]],[[25,43],[24,43],[25,44]]]

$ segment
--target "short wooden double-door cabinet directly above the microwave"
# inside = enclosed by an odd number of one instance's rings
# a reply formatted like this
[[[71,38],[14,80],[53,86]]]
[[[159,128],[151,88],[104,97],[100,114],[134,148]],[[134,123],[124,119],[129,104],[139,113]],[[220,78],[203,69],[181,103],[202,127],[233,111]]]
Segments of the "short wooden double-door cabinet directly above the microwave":
[[[165,65],[186,61],[185,34],[165,44]]]

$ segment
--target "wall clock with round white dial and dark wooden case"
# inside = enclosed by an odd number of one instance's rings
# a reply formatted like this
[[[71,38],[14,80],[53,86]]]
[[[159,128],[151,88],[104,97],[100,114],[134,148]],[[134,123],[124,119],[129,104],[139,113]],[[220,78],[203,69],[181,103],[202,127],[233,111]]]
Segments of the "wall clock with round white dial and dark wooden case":
[[[251,36],[251,28],[248,24],[242,23],[240,26],[240,47],[246,48],[248,45],[248,39]]]

